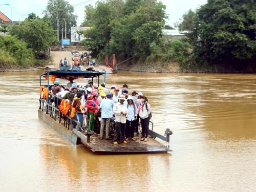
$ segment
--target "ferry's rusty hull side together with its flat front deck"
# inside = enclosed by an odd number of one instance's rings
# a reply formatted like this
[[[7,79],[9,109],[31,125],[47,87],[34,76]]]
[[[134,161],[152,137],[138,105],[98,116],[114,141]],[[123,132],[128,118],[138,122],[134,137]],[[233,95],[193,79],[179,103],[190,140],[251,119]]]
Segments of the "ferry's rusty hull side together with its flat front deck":
[[[38,110],[38,117],[48,124],[53,130],[57,131],[63,138],[71,141],[73,144],[84,144],[89,150],[95,153],[167,153],[170,150],[162,143],[154,138],[148,138],[147,142],[140,141],[139,137],[135,137],[136,141],[129,141],[128,144],[114,145],[112,140],[98,139],[98,135],[86,136],[82,132],[68,130],[63,124],[51,118],[45,112]]]

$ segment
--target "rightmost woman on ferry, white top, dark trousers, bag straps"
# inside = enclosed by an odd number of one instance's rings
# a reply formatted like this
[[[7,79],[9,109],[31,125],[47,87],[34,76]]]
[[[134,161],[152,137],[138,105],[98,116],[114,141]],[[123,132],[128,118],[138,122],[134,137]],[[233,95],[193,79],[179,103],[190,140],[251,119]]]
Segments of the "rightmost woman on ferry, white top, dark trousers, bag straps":
[[[140,104],[140,124],[142,129],[141,141],[147,141],[148,136],[148,126],[150,125],[150,115],[151,108],[150,104],[147,102],[146,97],[144,95],[141,96],[141,104]]]

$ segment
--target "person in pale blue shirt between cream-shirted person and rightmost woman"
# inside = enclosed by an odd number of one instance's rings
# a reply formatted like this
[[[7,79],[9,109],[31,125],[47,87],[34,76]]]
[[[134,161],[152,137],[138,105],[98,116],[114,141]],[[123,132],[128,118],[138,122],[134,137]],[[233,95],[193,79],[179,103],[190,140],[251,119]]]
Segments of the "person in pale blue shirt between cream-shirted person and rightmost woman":
[[[137,106],[135,102],[133,101],[133,98],[129,96],[127,98],[127,110],[128,110],[128,115],[127,115],[127,120],[126,120],[126,126],[125,126],[125,141],[129,140],[129,137],[131,137],[131,140],[136,141],[134,137],[134,123],[135,119],[137,118]]]

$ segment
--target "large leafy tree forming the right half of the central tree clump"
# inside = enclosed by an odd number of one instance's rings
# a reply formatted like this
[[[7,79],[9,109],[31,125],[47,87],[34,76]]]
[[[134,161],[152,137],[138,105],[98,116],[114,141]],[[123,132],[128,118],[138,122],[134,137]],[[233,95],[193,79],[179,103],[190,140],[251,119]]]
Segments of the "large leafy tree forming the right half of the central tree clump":
[[[151,47],[158,45],[164,26],[165,6],[154,0],[135,4],[134,11],[120,20],[113,20],[110,52],[121,57],[143,57],[150,55]]]

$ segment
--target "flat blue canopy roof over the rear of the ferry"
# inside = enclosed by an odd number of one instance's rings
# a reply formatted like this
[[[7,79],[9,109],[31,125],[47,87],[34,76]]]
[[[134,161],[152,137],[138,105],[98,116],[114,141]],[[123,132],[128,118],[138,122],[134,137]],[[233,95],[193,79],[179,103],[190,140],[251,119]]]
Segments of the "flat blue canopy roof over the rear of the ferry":
[[[106,72],[102,71],[60,71],[60,70],[49,70],[45,73],[42,73],[40,76],[49,76],[54,75],[56,78],[59,79],[67,79],[68,77],[72,76],[74,79],[81,79],[81,78],[94,78],[99,77],[100,75],[105,75]]]

